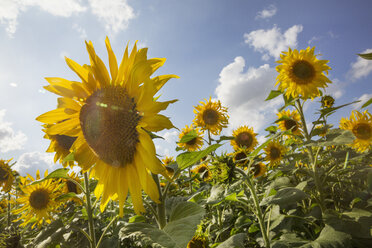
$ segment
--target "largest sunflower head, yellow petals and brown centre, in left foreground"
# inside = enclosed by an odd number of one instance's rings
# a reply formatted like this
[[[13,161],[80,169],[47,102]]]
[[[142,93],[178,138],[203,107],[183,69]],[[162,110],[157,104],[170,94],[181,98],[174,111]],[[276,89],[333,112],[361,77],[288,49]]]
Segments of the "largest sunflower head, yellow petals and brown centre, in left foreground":
[[[137,50],[136,44],[130,54],[126,47],[118,65],[107,38],[110,76],[92,43],[86,43],[86,47],[89,66],[66,58],[67,65],[81,82],[47,78],[50,85],[45,89],[63,98],[59,108],[37,120],[54,124],[46,130],[48,135],[77,137],[71,149],[84,170],[95,164],[91,176],[98,179],[94,193],[97,197],[102,195],[101,211],[110,199],[118,199],[122,215],[130,192],[135,212],[144,212],[142,189],[159,202],[158,189],[150,172],[165,173],[147,131],[173,128],[169,118],[158,113],[177,101],[159,102],[155,94],[169,79],[177,76],[150,78],[165,59],[148,59],[147,48]]]

